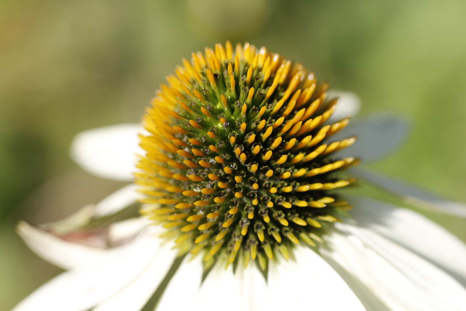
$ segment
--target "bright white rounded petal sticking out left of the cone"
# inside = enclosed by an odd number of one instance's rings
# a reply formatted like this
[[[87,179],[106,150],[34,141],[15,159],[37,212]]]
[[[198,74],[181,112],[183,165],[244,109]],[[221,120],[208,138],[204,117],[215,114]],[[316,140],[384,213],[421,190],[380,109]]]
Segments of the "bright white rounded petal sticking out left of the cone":
[[[118,124],[83,131],[71,143],[70,156],[85,171],[113,180],[132,180],[136,154],[144,154],[137,134],[140,124]]]

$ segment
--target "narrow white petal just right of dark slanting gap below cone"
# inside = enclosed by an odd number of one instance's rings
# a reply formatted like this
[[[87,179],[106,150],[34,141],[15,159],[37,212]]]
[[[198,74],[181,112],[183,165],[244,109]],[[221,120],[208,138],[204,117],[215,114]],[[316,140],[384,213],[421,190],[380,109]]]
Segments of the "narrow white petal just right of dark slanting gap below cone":
[[[189,255],[171,277],[156,310],[192,310],[192,305],[201,286],[203,266],[202,256],[189,261]],[[180,293],[182,297],[180,297]]]

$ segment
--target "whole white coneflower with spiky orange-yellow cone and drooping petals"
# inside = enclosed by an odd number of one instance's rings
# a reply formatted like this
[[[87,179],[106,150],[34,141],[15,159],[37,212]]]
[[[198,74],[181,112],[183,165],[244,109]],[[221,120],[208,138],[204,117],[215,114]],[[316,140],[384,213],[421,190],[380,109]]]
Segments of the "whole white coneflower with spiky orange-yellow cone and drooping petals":
[[[75,138],[75,161],[106,178],[131,179],[132,152],[141,154],[135,184],[48,231],[19,224],[31,249],[68,271],[15,311],[137,311],[148,301],[156,310],[466,310],[464,243],[410,210],[335,190],[355,182],[341,172],[358,162],[348,153],[390,152],[403,121],[344,128],[357,97],[340,92],[337,102],[301,64],[247,43],[193,53],[176,73],[146,111],[145,130],[123,124]],[[349,172],[466,214],[461,203]],[[60,238],[137,200],[141,217],[108,228],[117,246]]]

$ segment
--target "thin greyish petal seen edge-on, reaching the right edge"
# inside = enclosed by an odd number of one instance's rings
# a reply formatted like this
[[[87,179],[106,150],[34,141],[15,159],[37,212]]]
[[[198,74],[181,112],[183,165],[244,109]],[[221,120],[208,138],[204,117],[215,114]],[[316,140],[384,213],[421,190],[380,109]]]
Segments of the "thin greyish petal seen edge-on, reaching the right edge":
[[[419,187],[377,173],[372,173],[368,170],[355,168],[351,169],[351,173],[393,194],[401,196],[407,203],[414,206],[466,218],[465,203],[444,200]]]

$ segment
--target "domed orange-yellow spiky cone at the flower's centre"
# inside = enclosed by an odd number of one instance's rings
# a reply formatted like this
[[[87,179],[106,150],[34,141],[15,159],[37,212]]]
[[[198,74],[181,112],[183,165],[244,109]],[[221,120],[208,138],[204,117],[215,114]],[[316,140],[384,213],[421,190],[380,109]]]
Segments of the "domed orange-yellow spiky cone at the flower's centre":
[[[206,268],[240,254],[265,269],[277,251],[288,259],[293,244],[321,242],[347,207],[332,189],[352,181],[337,172],[356,163],[332,157],[356,138],[329,138],[349,119],[327,124],[328,83],[248,43],[182,62],[144,115],[141,213],[163,223],[180,254],[205,250]]]

